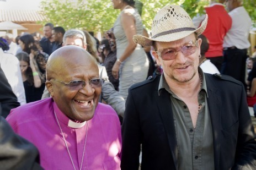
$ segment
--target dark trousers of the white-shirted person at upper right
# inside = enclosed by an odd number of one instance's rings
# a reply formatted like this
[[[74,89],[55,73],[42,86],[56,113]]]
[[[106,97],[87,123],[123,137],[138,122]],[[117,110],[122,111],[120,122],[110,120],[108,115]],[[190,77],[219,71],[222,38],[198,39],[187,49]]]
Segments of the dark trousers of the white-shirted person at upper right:
[[[230,75],[233,78],[241,81],[244,86],[246,77],[246,58],[247,49],[240,50],[238,48],[228,49],[223,51],[223,63],[221,74]]]

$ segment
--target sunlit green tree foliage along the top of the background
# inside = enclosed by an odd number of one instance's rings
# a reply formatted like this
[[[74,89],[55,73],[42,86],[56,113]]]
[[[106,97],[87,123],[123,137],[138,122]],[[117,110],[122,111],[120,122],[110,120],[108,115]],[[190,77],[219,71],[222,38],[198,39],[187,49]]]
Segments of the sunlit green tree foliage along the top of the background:
[[[202,13],[209,0],[140,0],[143,3],[142,19],[145,27],[150,30],[154,15],[168,3],[182,6],[190,17]],[[244,0],[250,17],[256,20],[255,0]],[[42,14],[54,25],[68,29],[82,29],[94,32],[104,32],[112,28],[119,9],[113,9],[110,0],[43,0]]]

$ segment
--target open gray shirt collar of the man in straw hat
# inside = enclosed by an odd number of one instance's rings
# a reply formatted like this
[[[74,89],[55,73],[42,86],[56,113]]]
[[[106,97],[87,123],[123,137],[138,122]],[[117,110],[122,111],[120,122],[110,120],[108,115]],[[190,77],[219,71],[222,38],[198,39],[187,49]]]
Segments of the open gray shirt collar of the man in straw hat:
[[[202,69],[200,67],[198,67],[198,73],[201,75],[202,78],[202,87],[201,90],[204,90],[206,93],[206,96],[208,97],[207,94],[207,86],[206,86],[206,81],[205,81],[205,76],[204,73],[202,72]],[[172,90],[170,90],[169,85],[166,82],[166,78],[164,77],[164,74],[161,75],[160,81],[159,81],[159,85],[158,85],[158,95],[160,96],[161,94],[161,90],[166,90],[168,91],[170,94],[173,95]]]

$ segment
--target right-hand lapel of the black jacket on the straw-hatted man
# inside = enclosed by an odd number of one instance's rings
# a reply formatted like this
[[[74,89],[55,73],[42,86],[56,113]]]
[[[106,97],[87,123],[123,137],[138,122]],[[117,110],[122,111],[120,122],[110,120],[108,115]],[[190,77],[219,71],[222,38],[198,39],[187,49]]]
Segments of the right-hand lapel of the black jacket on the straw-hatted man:
[[[212,124],[212,137],[214,139],[214,164],[215,169],[218,169],[220,165],[220,134],[221,134],[221,96],[218,95],[217,88],[214,86],[214,82],[211,81],[209,74],[205,74],[207,93],[207,103],[209,106],[209,113]]]

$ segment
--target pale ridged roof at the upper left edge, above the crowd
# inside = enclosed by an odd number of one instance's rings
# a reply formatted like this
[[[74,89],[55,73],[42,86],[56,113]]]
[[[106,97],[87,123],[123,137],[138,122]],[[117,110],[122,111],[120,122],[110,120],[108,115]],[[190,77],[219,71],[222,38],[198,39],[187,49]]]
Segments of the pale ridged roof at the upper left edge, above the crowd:
[[[44,16],[36,10],[0,9],[0,22],[12,21],[17,24],[36,23],[44,20]]]

